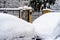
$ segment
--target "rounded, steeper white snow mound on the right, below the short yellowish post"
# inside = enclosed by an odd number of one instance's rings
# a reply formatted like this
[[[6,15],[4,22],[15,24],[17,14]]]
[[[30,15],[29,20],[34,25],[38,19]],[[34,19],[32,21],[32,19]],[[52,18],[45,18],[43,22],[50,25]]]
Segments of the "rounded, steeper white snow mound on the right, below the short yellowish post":
[[[37,18],[33,25],[38,36],[44,40],[53,40],[60,35],[60,13],[51,12]]]

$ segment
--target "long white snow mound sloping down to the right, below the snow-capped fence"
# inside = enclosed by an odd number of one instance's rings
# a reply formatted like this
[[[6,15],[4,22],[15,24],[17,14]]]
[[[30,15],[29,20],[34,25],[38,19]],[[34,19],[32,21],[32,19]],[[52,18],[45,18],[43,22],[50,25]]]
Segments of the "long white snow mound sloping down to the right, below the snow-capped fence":
[[[33,34],[32,24],[13,15],[0,13],[0,40],[21,40],[33,37]]]

